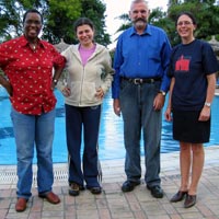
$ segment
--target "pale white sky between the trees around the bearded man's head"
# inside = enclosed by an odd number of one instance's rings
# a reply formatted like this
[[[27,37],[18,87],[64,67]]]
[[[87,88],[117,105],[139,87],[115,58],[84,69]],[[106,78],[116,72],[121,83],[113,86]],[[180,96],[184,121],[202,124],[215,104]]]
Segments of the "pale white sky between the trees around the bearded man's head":
[[[103,3],[106,4],[106,30],[107,33],[111,35],[111,41],[114,42],[118,34],[115,32],[120,26],[119,19],[116,19],[123,13],[128,13],[130,9],[130,3],[132,0],[102,0]],[[166,11],[168,0],[148,0],[150,10],[154,8],[162,8],[163,11]],[[115,46],[115,43],[110,45],[108,47],[112,48]]]

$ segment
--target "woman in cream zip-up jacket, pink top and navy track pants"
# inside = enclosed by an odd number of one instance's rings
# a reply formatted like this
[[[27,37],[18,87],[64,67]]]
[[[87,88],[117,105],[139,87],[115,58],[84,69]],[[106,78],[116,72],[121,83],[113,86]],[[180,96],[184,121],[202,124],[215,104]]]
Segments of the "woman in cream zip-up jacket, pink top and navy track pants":
[[[79,44],[69,46],[62,53],[67,60],[67,84],[58,84],[65,95],[69,195],[72,196],[84,189],[84,183],[92,194],[102,192],[97,181],[96,148],[101,105],[114,73],[108,50],[93,41],[92,21],[80,18],[74,23],[74,31]],[[81,161],[82,134],[84,150]]]

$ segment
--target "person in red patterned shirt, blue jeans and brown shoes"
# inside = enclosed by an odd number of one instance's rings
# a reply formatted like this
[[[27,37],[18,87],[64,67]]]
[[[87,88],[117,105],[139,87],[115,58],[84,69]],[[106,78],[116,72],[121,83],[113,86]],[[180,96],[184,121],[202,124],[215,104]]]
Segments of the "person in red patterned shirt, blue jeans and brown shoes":
[[[34,145],[38,196],[51,204],[60,203],[53,193],[54,88],[66,60],[53,45],[38,38],[42,24],[42,14],[35,9],[28,10],[23,19],[24,35],[0,44],[0,68],[7,76],[0,76],[0,83],[10,95],[16,142],[16,211],[26,209],[32,195]]]

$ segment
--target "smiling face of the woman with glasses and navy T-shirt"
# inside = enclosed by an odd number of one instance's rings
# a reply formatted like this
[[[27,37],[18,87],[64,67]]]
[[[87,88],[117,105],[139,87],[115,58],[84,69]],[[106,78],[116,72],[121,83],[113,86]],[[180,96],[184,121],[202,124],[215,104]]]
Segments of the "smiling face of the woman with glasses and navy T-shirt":
[[[176,23],[176,30],[183,43],[191,43],[194,39],[194,31],[196,25],[193,24],[193,20],[183,14],[178,18]]]

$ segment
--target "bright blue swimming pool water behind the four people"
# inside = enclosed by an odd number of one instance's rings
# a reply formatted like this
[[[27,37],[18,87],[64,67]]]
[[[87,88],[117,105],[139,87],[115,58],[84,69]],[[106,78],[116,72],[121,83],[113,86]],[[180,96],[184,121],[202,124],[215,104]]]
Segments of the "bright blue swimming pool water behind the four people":
[[[56,105],[56,134],[54,139],[54,162],[67,162],[66,131],[65,131],[65,108],[64,97],[59,91],[55,91],[57,96]],[[212,103],[212,123],[211,138],[206,147],[219,143],[219,97],[215,97]],[[164,106],[165,108],[165,106]],[[0,88],[0,164],[15,164],[16,153],[15,143],[10,118],[11,104],[8,94],[3,88]],[[112,107],[111,93],[104,100],[101,131],[100,131],[100,159],[112,160],[122,159],[125,157],[124,140],[123,140],[123,119],[117,117]],[[142,143],[141,143],[142,145]],[[162,123],[162,139],[161,152],[178,151],[177,141],[172,140],[172,124],[163,119]],[[141,147],[141,153],[143,150]],[[34,159],[34,162],[36,159]]]

